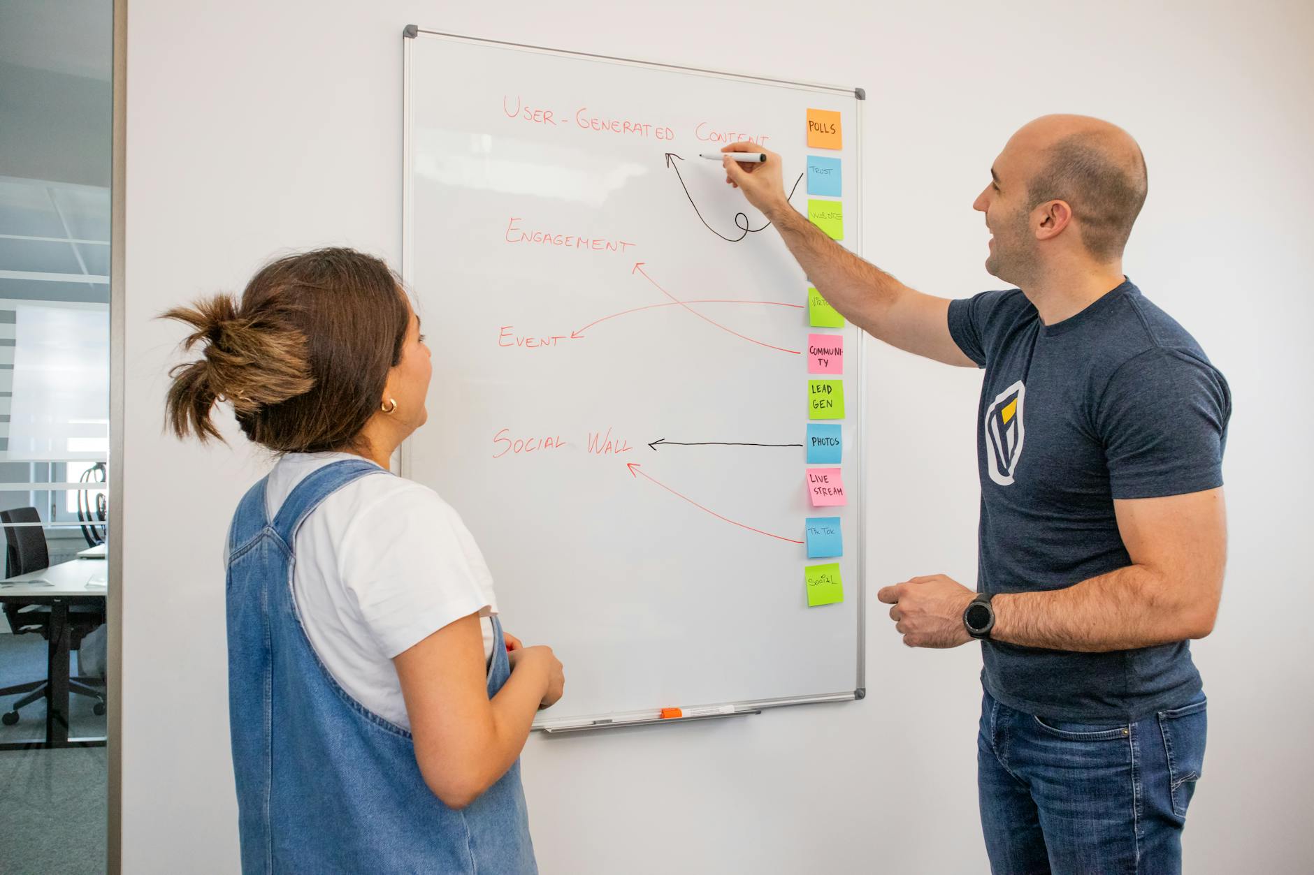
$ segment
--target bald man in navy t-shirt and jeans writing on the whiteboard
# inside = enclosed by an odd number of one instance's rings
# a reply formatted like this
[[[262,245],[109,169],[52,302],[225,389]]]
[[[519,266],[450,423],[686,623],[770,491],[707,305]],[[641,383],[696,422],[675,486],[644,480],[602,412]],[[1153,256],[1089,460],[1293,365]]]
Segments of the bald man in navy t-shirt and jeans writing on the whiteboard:
[[[992,234],[986,269],[1016,288],[957,301],[830,240],[790,206],[779,156],[723,163],[854,325],[986,369],[976,591],[933,574],[878,598],[908,646],[982,641],[992,871],[1180,871],[1205,753],[1188,640],[1213,629],[1222,593],[1231,398],[1122,273],[1146,197],[1141,148],[1079,116],[1017,131],[972,204]]]

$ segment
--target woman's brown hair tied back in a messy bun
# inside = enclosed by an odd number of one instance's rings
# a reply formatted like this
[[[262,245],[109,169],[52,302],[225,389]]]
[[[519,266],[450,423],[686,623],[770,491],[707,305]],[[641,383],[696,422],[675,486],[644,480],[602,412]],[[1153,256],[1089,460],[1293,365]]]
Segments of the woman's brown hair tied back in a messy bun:
[[[204,357],[170,370],[166,419],[179,438],[222,440],[210,413],[233,405],[252,441],[275,452],[365,449],[388,370],[401,363],[410,306],[389,267],[325,248],[281,258],[247,282],[160,314],[193,331]]]

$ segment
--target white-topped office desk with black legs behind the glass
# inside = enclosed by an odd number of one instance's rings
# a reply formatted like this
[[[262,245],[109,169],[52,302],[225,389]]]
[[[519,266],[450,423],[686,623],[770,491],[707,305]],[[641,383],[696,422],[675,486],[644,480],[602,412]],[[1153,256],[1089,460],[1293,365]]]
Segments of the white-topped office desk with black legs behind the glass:
[[[0,750],[26,748],[99,748],[104,737],[68,737],[68,606],[96,604],[105,600],[105,562],[72,560],[39,572],[30,572],[0,581],[0,603],[28,602],[50,606],[50,641],[47,646],[46,738],[45,741],[9,741]]]

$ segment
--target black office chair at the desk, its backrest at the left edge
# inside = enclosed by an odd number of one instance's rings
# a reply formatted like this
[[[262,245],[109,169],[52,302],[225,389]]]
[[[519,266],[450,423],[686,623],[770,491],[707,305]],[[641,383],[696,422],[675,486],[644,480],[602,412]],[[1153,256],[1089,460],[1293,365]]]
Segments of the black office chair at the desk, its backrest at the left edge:
[[[14,510],[0,511],[3,523],[39,523],[41,515],[35,507],[17,507]],[[8,577],[17,577],[29,572],[39,572],[50,568],[50,553],[46,549],[46,535],[39,526],[5,527],[4,529],[8,561]],[[50,639],[50,606],[37,602],[5,602],[5,617],[14,635],[35,632],[41,637]],[[70,649],[76,650],[83,636],[105,621],[105,610],[91,604],[68,606],[68,635]],[[68,691],[80,696],[96,699],[92,712],[105,713],[105,694],[91,683],[97,683],[97,678],[70,678]],[[9,711],[0,715],[0,723],[12,727],[18,723],[18,709],[26,708],[37,699],[43,699],[50,679],[29,681],[12,687],[0,688],[0,696],[13,696],[26,694],[13,703]]]

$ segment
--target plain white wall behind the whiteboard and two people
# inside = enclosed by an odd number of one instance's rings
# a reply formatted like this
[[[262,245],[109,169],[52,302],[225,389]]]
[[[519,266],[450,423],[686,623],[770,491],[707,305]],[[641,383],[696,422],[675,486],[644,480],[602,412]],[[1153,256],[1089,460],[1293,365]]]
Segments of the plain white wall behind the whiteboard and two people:
[[[866,87],[865,248],[949,296],[997,285],[970,204],[1013,129],[1066,110],[1135,134],[1151,185],[1127,271],[1201,340],[1236,407],[1227,591],[1196,648],[1212,727],[1188,870],[1307,870],[1309,4],[633,5],[130,1],[124,871],[237,867],[219,552],[263,465],[240,443],[206,451],[162,435],[180,331],[151,318],[240,288],[289,247],[344,243],[398,263],[410,22]],[[899,416],[869,448],[869,591],[933,572],[970,583],[979,376],[872,357],[869,403]],[[532,738],[543,871],[986,871],[978,652],[907,650],[887,627],[872,606],[866,702]]]

